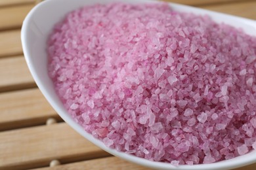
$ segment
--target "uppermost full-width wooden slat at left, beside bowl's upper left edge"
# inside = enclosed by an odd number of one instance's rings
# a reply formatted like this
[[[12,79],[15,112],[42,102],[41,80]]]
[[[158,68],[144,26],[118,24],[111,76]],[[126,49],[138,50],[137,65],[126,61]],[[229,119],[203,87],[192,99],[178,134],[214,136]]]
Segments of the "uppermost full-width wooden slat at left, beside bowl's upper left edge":
[[[34,5],[18,5],[0,8],[0,30],[21,27],[22,22]]]

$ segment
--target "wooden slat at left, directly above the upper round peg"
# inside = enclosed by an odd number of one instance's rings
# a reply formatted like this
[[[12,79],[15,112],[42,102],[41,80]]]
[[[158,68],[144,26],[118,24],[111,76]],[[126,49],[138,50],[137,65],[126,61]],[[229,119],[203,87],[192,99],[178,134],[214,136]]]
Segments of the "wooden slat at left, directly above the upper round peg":
[[[0,131],[61,120],[38,88],[0,93],[0,103]]]

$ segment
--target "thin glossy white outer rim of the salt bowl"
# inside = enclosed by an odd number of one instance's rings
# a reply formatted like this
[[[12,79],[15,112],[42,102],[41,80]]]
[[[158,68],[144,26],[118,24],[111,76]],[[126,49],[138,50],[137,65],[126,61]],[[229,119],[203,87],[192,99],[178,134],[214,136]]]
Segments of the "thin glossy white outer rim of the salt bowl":
[[[37,74],[37,68],[35,67],[35,65],[33,65],[31,58],[32,58],[32,54],[30,52],[30,44],[28,43],[28,37],[30,37],[30,24],[32,22],[32,16],[37,12],[38,9],[41,8],[45,8],[47,7],[47,5],[51,5],[52,2],[60,2],[60,1],[72,1],[72,0],[47,0],[47,1],[43,1],[37,5],[35,5],[35,7],[33,7],[32,10],[30,10],[30,12],[28,13],[28,15],[26,16],[23,24],[22,24],[22,30],[21,30],[21,41],[22,41],[22,49],[24,52],[24,57],[26,59],[26,63],[28,65],[28,68],[30,69],[30,73],[33,76],[33,79],[35,80],[35,83],[37,84],[39,90],[41,90],[41,92],[43,93],[43,95],[45,96],[45,98],[47,99],[47,101],[50,103],[50,105],[53,107],[54,110],[56,110],[56,112],[60,115],[60,117],[66,122],[68,123],[73,129],[75,129],[75,131],[77,131],[80,135],[82,135],[83,137],[85,137],[85,139],[89,140],[91,143],[95,144],[96,146],[98,146],[99,148],[102,148],[102,150],[105,150],[106,152],[109,152],[110,154],[113,154],[114,156],[117,156],[119,158],[122,158],[123,160],[127,160],[130,161],[132,163],[137,163],[139,165],[142,165],[144,167],[151,167],[154,169],[189,169],[189,170],[199,170],[199,169],[232,169],[232,168],[236,168],[236,167],[242,167],[244,165],[249,165],[251,163],[255,163],[256,162],[256,155],[253,157],[249,157],[248,159],[236,159],[238,157],[243,157],[243,156],[238,156],[236,158],[232,158],[230,160],[224,160],[224,161],[217,161],[215,163],[208,163],[208,164],[196,164],[196,165],[179,165],[179,166],[174,166],[171,165],[171,163],[164,163],[164,162],[160,162],[160,161],[150,161],[150,160],[146,160],[144,158],[139,158],[137,156],[133,156],[131,154],[127,154],[125,152],[119,152],[117,150],[114,150],[112,148],[108,148],[107,146],[105,146],[105,144],[100,141],[99,139],[96,139],[95,137],[93,137],[93,135],[91,135],[90,133],[87,133],[81,126],[79,126],[79,124],[77,124],[74,120],[72,120],[70,118],[70,116],[68,115],[68,112],[66,110],[60,109],[60,107],[58,106],[58,103],[56,103],[56,101],[54,101],[51,97],[51,93],[49,93],[49,91],[47,90],[47,88],[45,88],[43,81],[41,80],[41,78],[39,77],[39,75]],[[74,0],[73,0],[74,1]],[[75,0],[75,1],[81,1],[81,0]],[[129,1],[129,0],[127,0]],[[140,1],[148,1],[148,2],[153,2],[152,0],[140,0]],[[123,2],[123,1],[122,1]],[[154,1],[155,2],[155,1]],[[200,10],[202,12],[205,13],[209,13],[211,12],[211,14],[218,14],[218,15],[222,15],[222,16],[228,16],[231,18],[236,18],[237,20],[244,20],[244,22],[254,22],[255,29],[256,29],[256,22],[253,20],[249,20],[247,18],[241,18],[238,16],[231,16],[228,14],[223,14],[220,12],[213,12],[213,11],[209,11],[209,10],[205,10],[205,9],[199,9],[196,7],[190,7],[187,5],[179,5],[177,3],[169,3],[169,5],[171,6],[175,6],[175,7],[186,7],[186,8],[192,8],[192,9],[196,9],[196,10]],[[249,153],[247,153],[249,154]],[[247,155],[245,154],[245,155]]]

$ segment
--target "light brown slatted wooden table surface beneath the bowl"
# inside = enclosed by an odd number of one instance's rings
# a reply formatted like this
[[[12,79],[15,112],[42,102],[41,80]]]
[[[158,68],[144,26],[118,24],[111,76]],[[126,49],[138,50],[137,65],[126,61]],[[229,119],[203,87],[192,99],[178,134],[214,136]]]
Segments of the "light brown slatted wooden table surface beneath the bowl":
[[[256,20],[255,0],[174,2]],[[35,0],[0,0],[0,169],[147,169],[78,135],[39,92],[20,44],[22,21],[34,5]],[[61,165],[50,167],[52,160]],[[242,169],[256,169],[256,164]]]

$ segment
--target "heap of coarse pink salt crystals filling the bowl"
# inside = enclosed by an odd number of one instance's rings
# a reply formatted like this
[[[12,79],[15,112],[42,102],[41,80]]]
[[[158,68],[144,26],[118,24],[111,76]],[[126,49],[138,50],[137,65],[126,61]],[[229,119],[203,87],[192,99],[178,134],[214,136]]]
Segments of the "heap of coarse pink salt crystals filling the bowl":
[[[256,38],[166,3],[74,10],[49,37],[49,76],[85,131],[173,165],[256,148]]]

